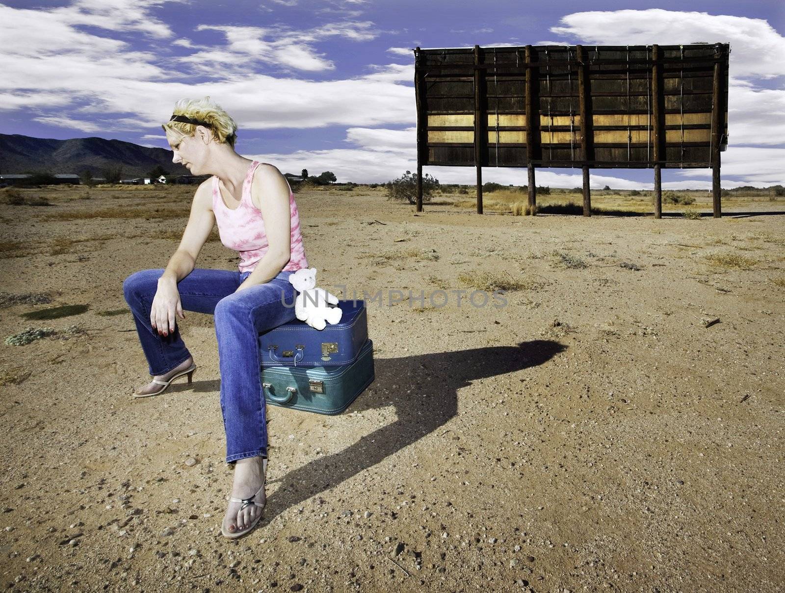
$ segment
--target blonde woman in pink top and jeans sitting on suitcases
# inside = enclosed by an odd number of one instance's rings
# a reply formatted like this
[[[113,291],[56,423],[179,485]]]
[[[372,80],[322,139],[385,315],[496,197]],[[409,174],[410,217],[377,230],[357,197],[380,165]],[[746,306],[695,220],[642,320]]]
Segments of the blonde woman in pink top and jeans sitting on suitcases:
[[[153,379],[135,397],[158,395],[177,377],[188,383],[196,366],[175,318],[183,311],[215,315],[221,371],[226,462],[235,464],[232,497],[221,524],[225,537],[249,533],[265,506],[267,424],[258,334],[294,318],[289,276],[308,267],[297,204],[286,178],[234,150],[236,124],[217,104],[180,100],[164,124],[166,139],[199,185],[180,246],[166,269],[139,271],[123,292]],[[239,252],[239,271],[195,268],[196,256],[218,225],[221,242]]]

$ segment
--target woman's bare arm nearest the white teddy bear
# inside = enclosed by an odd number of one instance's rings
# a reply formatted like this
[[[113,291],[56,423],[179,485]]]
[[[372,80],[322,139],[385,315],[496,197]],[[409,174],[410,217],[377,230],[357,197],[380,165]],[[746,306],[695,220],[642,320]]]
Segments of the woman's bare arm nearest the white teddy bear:
[[[251,198],[261,209],[268,249],[238,290],[265,284],[279,275],[291,257],[289,184],[277,167],[262,163],[254,172]]]

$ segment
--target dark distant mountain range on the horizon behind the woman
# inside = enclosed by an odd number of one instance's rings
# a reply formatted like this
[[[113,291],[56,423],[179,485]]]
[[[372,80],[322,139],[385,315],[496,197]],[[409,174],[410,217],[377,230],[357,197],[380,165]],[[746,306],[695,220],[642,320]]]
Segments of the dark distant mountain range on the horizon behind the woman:
[[[184,166],[172,162],[172,152],[104,138],[33,138],[0,134],[0,173],[76,173],[90,171],[100,176],[106,166],[122,165],[122,176],[144,176],[155,166],[170,175],[189,175]]]

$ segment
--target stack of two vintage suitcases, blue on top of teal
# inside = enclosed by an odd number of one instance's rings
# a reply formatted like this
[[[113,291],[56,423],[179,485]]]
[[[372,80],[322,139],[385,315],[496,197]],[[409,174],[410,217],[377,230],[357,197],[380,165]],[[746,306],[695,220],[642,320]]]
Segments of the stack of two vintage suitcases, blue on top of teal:
[[[294,319],[259,336],[261,384],[273,406],[343,412],[374,380],[363,300],[339,300],[341,322],[313,329]]]

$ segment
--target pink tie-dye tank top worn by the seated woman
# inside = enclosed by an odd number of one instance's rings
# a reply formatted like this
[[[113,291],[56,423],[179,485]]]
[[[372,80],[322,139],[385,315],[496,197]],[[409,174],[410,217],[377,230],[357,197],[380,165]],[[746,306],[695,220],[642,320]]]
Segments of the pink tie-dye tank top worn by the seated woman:
[[[241,272],[252,271],[259,260],[265,256],[269,247],[261,211],[254,206],[250,197],[250,185],[259,165],[258,161],[251,163],[243,181],[243,195],[240,198],[239,206],[235,209],[226,206],[224,199],[221,198],[218,177],[213,177],[213,212],[218,224],[218,234],[221,235],[221,242],[225,246],[239,252],[239,270]],[[264,200],[264,196],[261,199]],[[308,267],[300,234],[300,215],[291,189],[289,190],[289,213],[291,216],[290,258],[282,271],[294,271]]]

